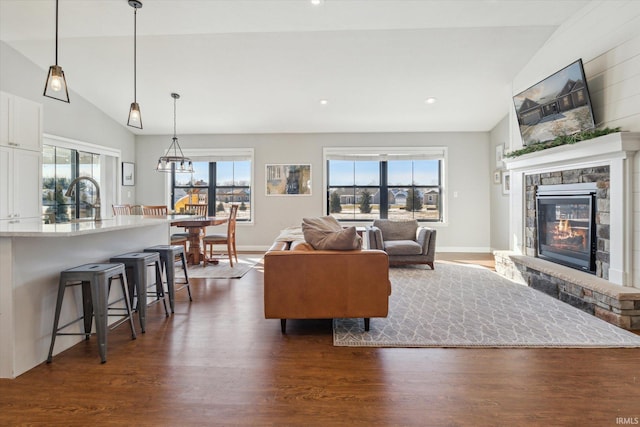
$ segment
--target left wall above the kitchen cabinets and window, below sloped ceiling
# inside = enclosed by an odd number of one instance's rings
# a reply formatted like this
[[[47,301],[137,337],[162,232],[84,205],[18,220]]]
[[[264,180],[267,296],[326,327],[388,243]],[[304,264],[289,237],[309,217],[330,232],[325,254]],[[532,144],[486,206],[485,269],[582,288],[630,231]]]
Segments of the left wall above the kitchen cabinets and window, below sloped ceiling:
[[[125,124],[113,121],[73,92],[71,79],[68,81],[69,104],[42,96],[46,78],[47,70],[39,68],[12,47],[0,42],[0,90],[41,103],[44,133],[118,149],[122,161],[135,161],[135,136],[126,129]],[[128,106],[123,108],[126,117]],[[133,203],[136,198],[135,187],[124,188],[130,194],[123,191],[122,202]]]

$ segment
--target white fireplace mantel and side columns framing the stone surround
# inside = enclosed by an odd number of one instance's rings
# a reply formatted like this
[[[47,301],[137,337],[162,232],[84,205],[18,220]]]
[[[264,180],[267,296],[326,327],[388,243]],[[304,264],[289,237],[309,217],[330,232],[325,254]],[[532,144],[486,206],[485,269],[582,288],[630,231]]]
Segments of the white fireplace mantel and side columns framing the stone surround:
[[[638,151],[640,133],[618,132],[505,159],[511,175],[510,249],[526,254],[524,183],[527,175],[608,166],[611,204],[609,282],[640,288],[640,247],[633,247],[634,230],[640,229],[640,224],[634,227],[634,214],[640,218],[640,208],[636,202],[634,210],[633,200],[634,180],[640,181],[640,176],[634,175],[634,169],[640,170]],[[640,182],[635,185],[640,189]]]

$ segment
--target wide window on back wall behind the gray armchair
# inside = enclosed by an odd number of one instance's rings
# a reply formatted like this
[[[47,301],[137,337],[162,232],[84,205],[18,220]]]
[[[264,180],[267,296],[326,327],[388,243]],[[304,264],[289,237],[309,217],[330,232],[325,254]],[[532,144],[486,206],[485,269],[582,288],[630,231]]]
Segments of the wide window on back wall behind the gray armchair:
[[[445,157],[444,148],[325,149],[326,213],[341,221],[443,221]]]

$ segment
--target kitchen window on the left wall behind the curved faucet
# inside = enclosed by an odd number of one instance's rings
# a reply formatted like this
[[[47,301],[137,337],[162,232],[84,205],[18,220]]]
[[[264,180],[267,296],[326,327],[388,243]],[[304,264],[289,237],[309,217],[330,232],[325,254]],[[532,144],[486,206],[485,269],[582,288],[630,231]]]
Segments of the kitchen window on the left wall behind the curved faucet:
[[[82,180],[71,197],[65,192],[71,181],[88,176],[100,182],[100,155],[71,148],[44,145],[42,150],[42,210],[55,222],[93,218],[95,186]]]

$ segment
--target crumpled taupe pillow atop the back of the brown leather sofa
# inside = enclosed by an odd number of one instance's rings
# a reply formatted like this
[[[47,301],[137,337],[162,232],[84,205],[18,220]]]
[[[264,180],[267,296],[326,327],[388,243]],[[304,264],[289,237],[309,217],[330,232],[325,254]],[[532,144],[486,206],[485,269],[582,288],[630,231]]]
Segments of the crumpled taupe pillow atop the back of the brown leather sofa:
[[[304,239],[318,250],[350,251],[362,246],[356,228],[342,228],[332,216],[303,218],[302,232]]]

